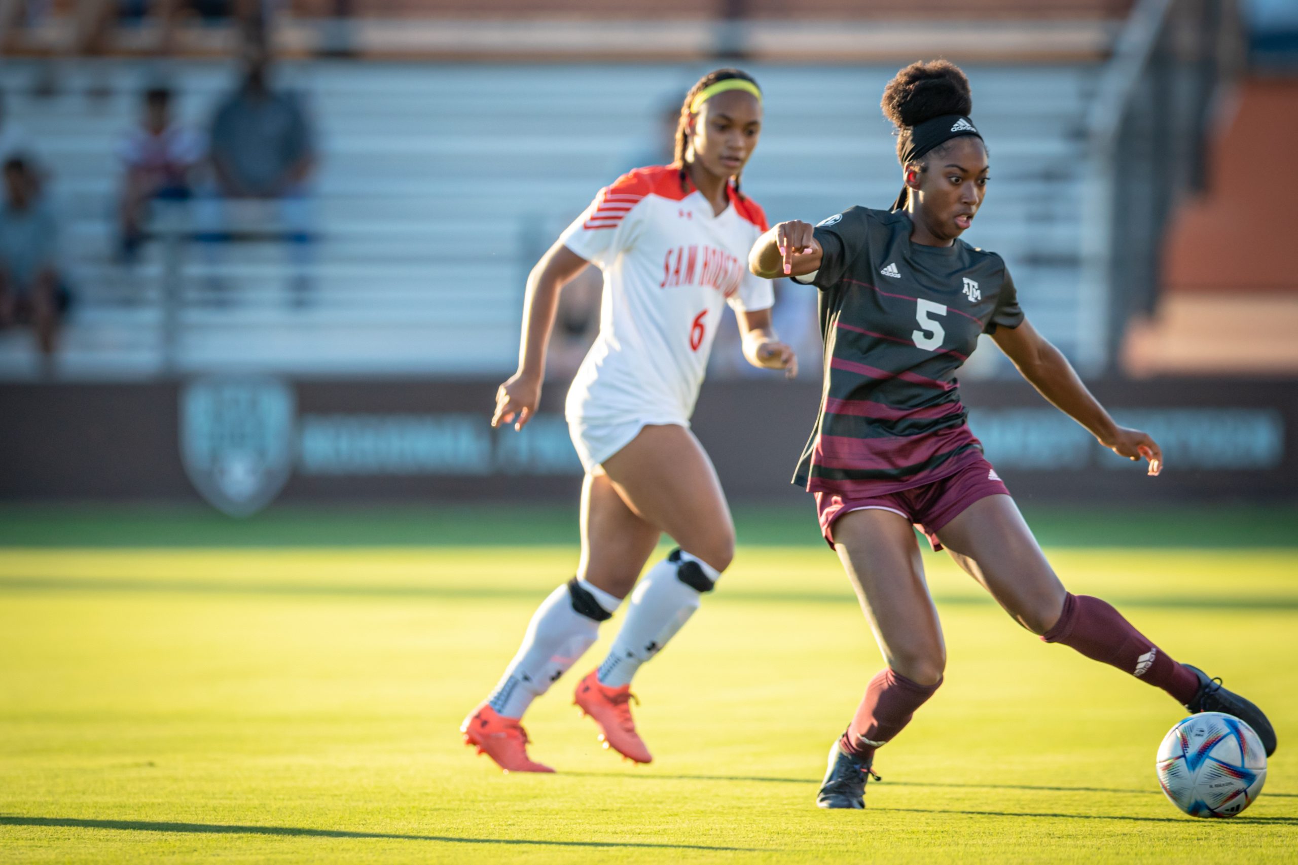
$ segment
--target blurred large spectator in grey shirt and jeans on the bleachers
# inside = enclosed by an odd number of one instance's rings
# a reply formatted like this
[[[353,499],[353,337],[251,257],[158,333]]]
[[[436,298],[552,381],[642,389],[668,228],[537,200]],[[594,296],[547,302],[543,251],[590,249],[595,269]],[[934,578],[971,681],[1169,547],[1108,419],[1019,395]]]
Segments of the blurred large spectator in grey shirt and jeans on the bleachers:
[[[301,100],[274,90],[269,74],[266,55],[254,51],[239,88],[217,108],[209,143],[215,190],[201,201],[200,234],[208,240],[261,235],[266,227],[252,225],[249,216],[273,216],[278,225],[270,231],[287,238],[295,251],[295,287],[305,288],[315,144]]]

